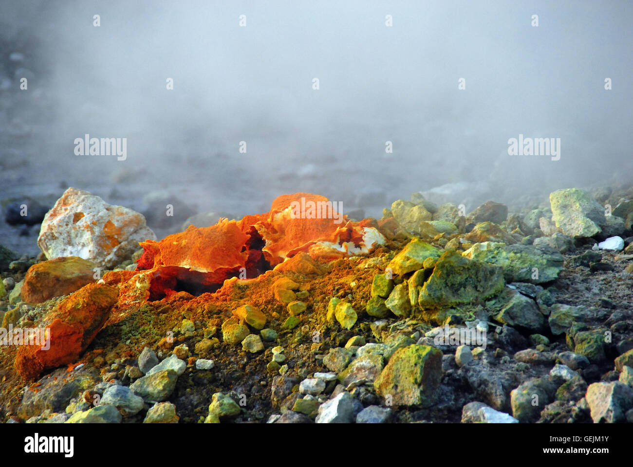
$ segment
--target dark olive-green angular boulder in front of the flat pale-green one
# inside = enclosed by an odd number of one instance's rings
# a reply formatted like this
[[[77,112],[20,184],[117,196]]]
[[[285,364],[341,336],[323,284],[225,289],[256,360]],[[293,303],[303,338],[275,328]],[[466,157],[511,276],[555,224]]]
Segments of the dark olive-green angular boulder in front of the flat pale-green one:
[[[422,308],[438,308],[472,303],[503,290],[503,270],[448,250],[437,260],[433,273],[420,290]],[[389,306],[389,304],[387,304]]]

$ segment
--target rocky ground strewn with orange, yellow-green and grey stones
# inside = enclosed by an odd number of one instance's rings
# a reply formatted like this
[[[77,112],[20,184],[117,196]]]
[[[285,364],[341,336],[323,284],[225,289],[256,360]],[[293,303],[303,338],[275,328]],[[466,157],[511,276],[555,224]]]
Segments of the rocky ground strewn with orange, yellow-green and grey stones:
[[[50,351],[1,346],[6,423],[633,423],[633,189],[517,213],[413,194],[349,224],[382,234],[368,253],[273,267],[249,240],[268,267],[208,289],[170,242],[159,266],[133,232],[68,231],[63,216],[91,220],[77,199],[47,215],[43,253],[2,250],[2,327],[53,335]],[[74,258],[82,242],[101,258]]]

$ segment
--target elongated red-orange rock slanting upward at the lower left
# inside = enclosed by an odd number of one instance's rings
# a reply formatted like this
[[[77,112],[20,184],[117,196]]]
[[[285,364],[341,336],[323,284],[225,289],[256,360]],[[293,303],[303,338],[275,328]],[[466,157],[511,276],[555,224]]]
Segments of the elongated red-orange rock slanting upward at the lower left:
[[[103,327],[117,298],[118,289],[110,285],[89,283],[77,290],[42,319],[48,348],[44,342],[20,347],[15,369],[33,379],[47,368],[76,361]]]

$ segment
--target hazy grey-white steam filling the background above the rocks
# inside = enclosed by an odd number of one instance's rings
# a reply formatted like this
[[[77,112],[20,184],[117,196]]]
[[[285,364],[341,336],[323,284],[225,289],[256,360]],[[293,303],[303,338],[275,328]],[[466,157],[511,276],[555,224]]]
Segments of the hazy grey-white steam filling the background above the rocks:
[[[241,217],[307,191],[380,216],[444,184],[470,211],[629,182],[632,5],[2,0],[0,192]],[[75,156],[86,133],[127,160]],[[519,134],[560,161],[508,156]]]

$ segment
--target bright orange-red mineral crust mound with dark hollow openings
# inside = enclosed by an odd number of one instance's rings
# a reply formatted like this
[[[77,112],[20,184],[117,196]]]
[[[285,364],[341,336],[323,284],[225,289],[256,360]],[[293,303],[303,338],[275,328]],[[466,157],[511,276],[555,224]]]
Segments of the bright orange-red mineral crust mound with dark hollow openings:
[[[157,301],[182,291],[197,296],[215,292],[232,277],[256,278],[300,252],[323,262],[384,244],[375,221],[349,221],[337,206],[315,194],[283,195],[262,215],[221,219],[211,227],[190,225],[160,242],[141,242],[144,252],[135,272],[144,276],[134,287],[121,283],[121,300]]]

